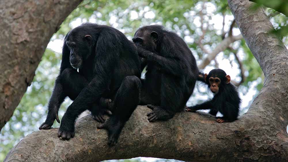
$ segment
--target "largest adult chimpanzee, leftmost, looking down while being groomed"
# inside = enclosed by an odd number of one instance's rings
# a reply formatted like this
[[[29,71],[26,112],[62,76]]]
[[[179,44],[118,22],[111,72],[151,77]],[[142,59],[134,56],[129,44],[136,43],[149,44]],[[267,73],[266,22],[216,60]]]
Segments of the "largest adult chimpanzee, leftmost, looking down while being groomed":
[[[140,75],[137,50],[123,33],[92,23],[72,29],[64,39],[60,74],[48,104],[48,116],[39,129],[51,128],[58,119],[60,104],[68,96],[74,101],[61,120],[58,137],[69,140],[75,134],[77,116],[86,109],[94,117],[103,114],[105,109],[99,100],[110,98],[113,114],[100,127],[108,130],[108,144],[115,144],[139,102]]]

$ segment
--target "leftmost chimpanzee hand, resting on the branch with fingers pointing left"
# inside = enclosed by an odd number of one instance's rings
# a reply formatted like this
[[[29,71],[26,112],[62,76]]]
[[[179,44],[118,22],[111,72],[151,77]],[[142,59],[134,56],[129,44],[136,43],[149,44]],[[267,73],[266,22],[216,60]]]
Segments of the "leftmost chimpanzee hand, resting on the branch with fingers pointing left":
[[[51,129],[54,120],[56,119],[58,123],[60,123],[59,117],[58,117],[58,110],[59,108],[57,106],[53,106],[54,108],[51,109],[53,111],[48,111],[47,118],[44,123],[42,123],[39,127],[39,130],[41,129]]]

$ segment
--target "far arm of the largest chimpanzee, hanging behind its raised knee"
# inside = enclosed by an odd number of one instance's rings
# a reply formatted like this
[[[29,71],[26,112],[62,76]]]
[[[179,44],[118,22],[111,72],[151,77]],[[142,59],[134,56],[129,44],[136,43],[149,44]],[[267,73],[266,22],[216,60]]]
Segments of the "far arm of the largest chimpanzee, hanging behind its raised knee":
[[[68,35],[68,33],[67,33]],[[67,37],[66,35],[66,37]],[[61,61],[61,65],[60,65],[60,72],[58,77],[55,80],[55,85],[54,85],[54,89],[52,92],[52,95],[50,97],[50,100],[48,102],[48,114],[46,117],[46,120],[44,123],[41,124],[41,126],[39,127],[39,129],[50,129],[51,126],[54,123],[54,120],[56,119],[58,123],[60,123],[59,117],[58,117],[58,111],[59,108],[61,106],[61,103],[64,101],[65,97],[67,97],[67,95],[65,95],[64,90],[63,90],[63,86],[62,86],[62,72],[66,69],[66,68],[71,68],[73,69],[73,67],[70,65],[70,61],[69,61],[69,57],[70,57],[70,50],[66,45],[66,37],[64,38],[64,44],[63,44],[63,48],[62,48],[62,61]]]

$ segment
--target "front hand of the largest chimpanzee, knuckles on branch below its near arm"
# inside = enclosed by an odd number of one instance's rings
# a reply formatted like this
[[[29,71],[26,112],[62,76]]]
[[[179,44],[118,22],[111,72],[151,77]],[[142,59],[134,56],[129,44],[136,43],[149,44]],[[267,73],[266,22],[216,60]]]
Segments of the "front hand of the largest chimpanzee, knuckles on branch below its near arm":
[[[57,133],[58,137],[61,137],[62,140],[69,140],[70,138],[73,138],[75,135],[74,132],[75,119],[69,118],[69,116],[70,115],[68,115],[67,112],[63,115],[61,125]]]

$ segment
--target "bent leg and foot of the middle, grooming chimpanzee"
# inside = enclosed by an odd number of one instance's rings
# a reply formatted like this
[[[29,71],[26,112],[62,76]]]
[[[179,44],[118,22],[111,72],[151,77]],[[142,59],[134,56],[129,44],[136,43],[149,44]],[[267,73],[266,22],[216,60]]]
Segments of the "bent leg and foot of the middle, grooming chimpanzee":
[[[162,74],[161,106],[147,105],[153,111],[147,113],[148,120],[168,120],[176,112],[184,110],[190,97],[190,90],[183,78],[170,77]]]

